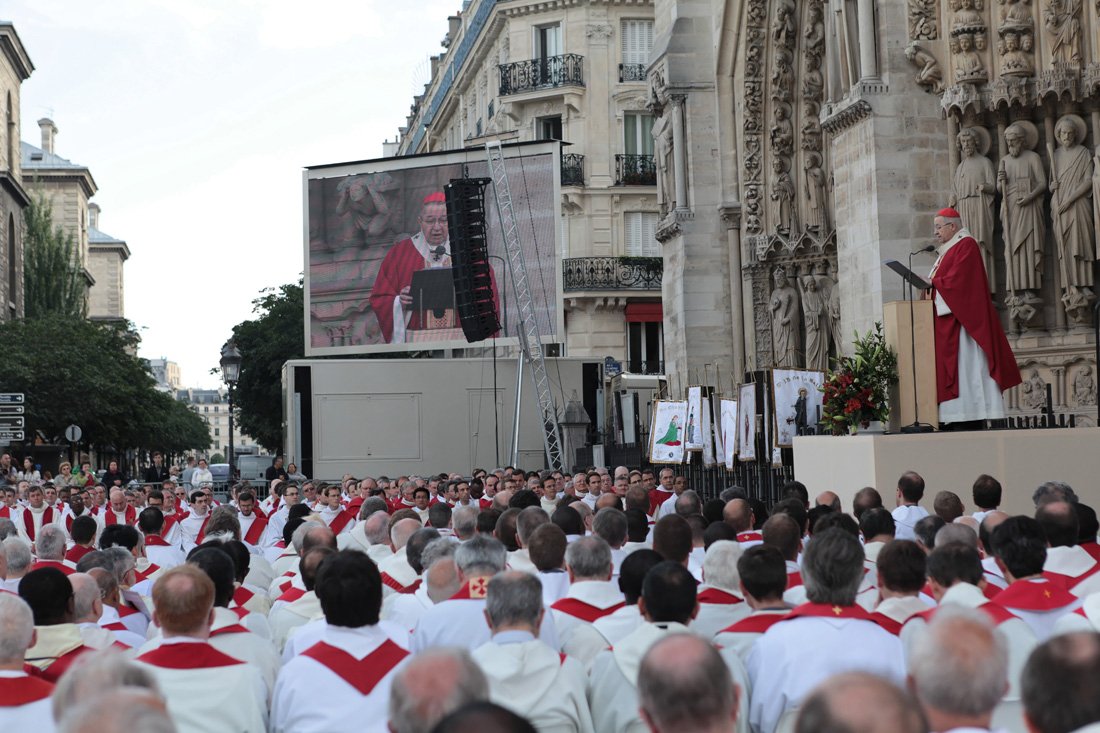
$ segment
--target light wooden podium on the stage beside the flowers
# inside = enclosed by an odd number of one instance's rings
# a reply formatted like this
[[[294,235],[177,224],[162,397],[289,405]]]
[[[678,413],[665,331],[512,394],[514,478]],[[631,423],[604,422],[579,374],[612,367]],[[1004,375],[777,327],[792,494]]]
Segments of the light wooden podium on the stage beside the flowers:
[[[891,433],[914,419],[939,426],[936,402],[936,339],[933,332],[932,300],[913,302],[910,328],[909,300],[891,300],[882,306],[887,343],[898,354],[898,385],[890,390]],[[912,339],[910,335],[912,333]],[[916,416],[913,415],[913,344],[916,347]]]

